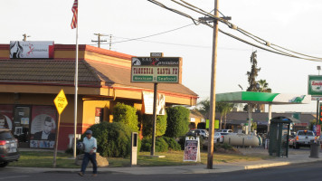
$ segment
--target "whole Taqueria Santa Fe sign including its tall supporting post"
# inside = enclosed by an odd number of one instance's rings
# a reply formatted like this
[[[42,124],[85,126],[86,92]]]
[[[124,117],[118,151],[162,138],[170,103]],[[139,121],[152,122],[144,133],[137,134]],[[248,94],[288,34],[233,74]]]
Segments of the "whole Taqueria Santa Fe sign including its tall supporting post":
[[[151,52],[150,57],[133,57],[131,82],[154,83],[153,129],[151,156],[155,156],[156,145],[156,100],[157,83],[181,83],[180,57],[163,57],[163,52]]]

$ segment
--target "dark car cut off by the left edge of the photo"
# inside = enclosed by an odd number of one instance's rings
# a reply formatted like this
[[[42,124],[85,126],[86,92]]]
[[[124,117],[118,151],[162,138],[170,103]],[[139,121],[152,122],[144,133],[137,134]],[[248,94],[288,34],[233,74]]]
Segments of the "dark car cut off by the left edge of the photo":
[[[0,129],[0,167],[6,167],[9,162],[17,161],[19,157],[18,140],[11,134],[10,129]]]

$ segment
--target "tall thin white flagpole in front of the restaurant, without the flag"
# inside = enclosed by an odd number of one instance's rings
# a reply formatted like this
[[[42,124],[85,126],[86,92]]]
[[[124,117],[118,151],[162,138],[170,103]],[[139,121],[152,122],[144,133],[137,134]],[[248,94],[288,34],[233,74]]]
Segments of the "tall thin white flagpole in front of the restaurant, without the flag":
[[[79,2],[78,2],[79,3]],[[74,144],[73,144],[73,156],[76,159],[76,134],[77,134],[77,99],[78,99],[78,86],[79,86],[79,22],[78,22],[78,6],[76,14],[76,60],[75,60],[75,102],[74,102]]]

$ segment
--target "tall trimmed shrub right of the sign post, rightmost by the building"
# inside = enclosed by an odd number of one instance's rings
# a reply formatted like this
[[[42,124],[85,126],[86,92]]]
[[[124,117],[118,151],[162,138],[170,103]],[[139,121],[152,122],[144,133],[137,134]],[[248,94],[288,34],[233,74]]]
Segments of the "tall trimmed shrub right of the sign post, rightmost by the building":
[[[182,107],[172,107],[166,109],[167,127],[166,137],[179,138],[189,131],[190,110]]]

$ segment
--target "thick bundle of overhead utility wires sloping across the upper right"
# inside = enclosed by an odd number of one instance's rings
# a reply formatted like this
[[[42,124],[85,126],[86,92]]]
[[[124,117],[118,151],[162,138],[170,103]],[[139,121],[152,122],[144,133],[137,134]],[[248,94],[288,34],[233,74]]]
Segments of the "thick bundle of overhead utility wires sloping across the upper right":
[[[172,11],[176,14],[180,14],[180,15],[183,15],[189,19],[191,19],[195,25],[198,25],[198,24],[204,24],[204,25],[207,25],[211,28],[213,28],[213,24],[210,24],[209,22],[205,21],[205,20],[202,20],[200,18],[196,19],[194,18],[192,15],[189,15],[189,14],[186,14],[186,13],[183,13],[177,9],[174,9],[174,8],[171,8],[171,7],[168,7],[156,0],[147,0],[155,5],[158,5],[160,7],[163,7],[169,11]],[[194,11],[195,13],[197,14],[202,14],[204,15],[204,17],[210,17],[213,19],[213,21],[218,21],[218,22],[221,22],[223,24],[226,24],[229,28],[231,28],[232,30],[235,30],[237,31],[238,33],[242,33],[243,35],[247,36],[248,38],[251,38],[252,41],[255,41],[255,43],[251,43],[250,41],[247,41],[245,39],[242,39],[241,37],[238,37],[236,35],[233,35],[232,33],[227,33],[227,32],[224,32],[223,30],[219,29],[218,31],[220,33],[223,33],[227,36],[230,36],[242,43],[247,43],[247,44],[250,44],[251,46],[254,46],[254,47],[257,47],[261,50],[265,50],[265,51],[268,51],[268,52],[273,52],[273,53],[277,53],[279,55],[283,55],[283,56],[288,56],[288,57],[292,57],[292,58],[298,58],[298,59],[303,59],[303,60],[308,60],[308,61],[314,61],[314,62],[322,62],[322,58],[320,57],[315,57],[315,56],[310,56],[308,54],[304,54],[304,53],[300,53],[300,52],[295,52],[295,51],[292,51],[292,50],[289,50],[287,48],[284,48],[282,46],[279,46],[275,43],[270,43],[269,41],[266,41],[264,40],[263,38],[260,38],[259,36],[257,35],[254,35],[252,33],[249,33],[245,30],[243,30],[241,27],[238,27],[237,25],[235,24],[232,24],[231,22],[229,22],[228,20],[222,18],[222,17],[217,17],[215,16],[214,14],[211,14],[211,13],[208,13],[206,11],[204,11],[203,9],[195,6],[195,5],[192,5],[190,3],[187,3],[185,2],[185,0],[170,0],[172,2],[174,2],[175,4],[177,5],[180,5],[180,6],[183,6],[191,11]],[[219,10],[215,10],[215,11],[218,11]],[[222,14],[221,12],[219,12],[220,14]],[[223,15],[223,14],[222,14]],[[224,16],[224,15],[223,15]],[[256,43],[259,43],[259,44],[256,44]]]

